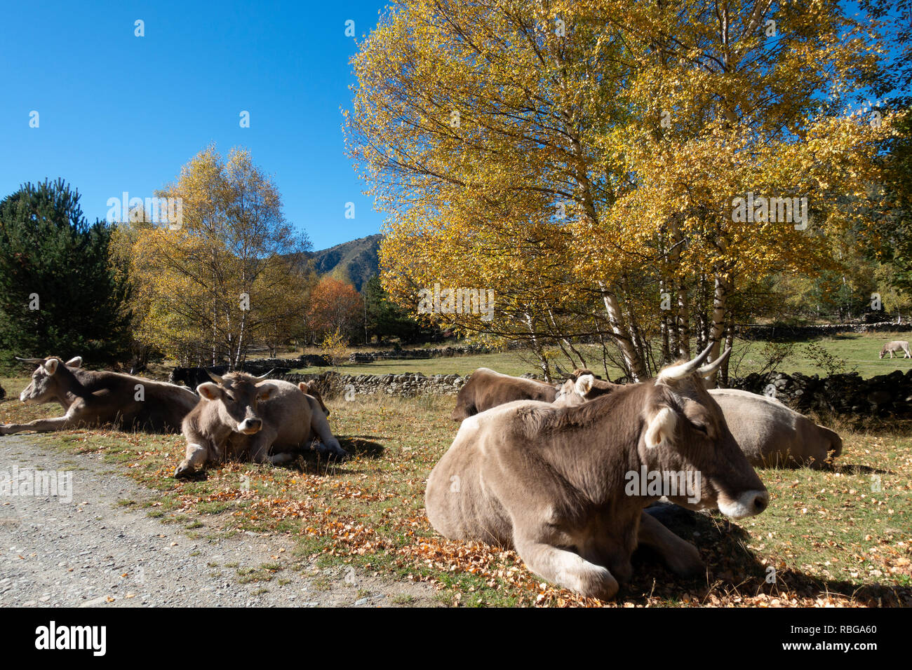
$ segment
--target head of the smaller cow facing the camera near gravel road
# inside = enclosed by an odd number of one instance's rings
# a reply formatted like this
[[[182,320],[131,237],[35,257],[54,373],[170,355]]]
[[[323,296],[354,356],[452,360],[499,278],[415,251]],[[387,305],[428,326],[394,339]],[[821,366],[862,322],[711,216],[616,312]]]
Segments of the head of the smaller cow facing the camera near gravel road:
[[[254,435],[263,428],[263,419],[259,415],[260,403],[268,400],[278,390],[275,385],[260,381],[266,375],[251,376],[233,372],[218,376],[210,372],[212,381],[196,387],[196,392],[204,400],[216,403],[219,419],[233,432]]]

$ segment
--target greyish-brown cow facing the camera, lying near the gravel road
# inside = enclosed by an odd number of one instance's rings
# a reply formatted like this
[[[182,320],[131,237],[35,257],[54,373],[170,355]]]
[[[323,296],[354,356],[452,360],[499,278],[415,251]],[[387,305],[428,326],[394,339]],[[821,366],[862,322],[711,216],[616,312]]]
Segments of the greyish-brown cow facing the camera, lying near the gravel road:
[[[316,445],[321,453],[347,456],[320,403],[300,387],[243,372],[210,376],[215,383],[196,388],[199,403],[183,420],[187,453],[174,477],[189,477],[207,463],[228,457],[288,463],[295,459],[291,452],[307,448],[315,436],[322,440]]]

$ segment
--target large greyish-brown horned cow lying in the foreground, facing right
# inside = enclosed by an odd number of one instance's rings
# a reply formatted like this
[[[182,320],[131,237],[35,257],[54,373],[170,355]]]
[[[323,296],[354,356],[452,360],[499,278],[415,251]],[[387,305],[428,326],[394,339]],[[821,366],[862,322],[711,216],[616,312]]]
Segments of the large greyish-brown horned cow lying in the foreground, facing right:
[[[530,570],[586,596],[613,597],[640,543],[675,572],[699,572],[696,548],[643,509],[664,493],[740,519],[769,500],[703,386],[709,351],[578,407],[523,400],[465,419],[430,473],[430,523],[452,540],[513,547]],[[696,496],[628,490],[641,471],[690,473]]]

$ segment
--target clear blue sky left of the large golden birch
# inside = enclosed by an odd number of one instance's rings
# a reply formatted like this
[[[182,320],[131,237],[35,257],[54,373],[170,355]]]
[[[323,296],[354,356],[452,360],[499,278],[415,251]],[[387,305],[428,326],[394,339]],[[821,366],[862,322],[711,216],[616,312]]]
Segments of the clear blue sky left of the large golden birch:
[[[0,197],[63,177],[88,219],[103,219],[109,198],[152,196],[215,142],[223,154],[250,149],[314,249],[378,232],[382,216],[344,153],[340,108],[350,107],[357,50],[345,22],[360,39],[384,5],[6,3]]]

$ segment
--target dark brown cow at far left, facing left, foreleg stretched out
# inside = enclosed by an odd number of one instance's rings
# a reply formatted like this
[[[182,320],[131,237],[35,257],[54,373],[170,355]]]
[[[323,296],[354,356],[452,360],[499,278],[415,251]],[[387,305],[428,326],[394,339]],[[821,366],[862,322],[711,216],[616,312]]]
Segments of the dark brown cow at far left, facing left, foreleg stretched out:
[[[79,356],[66,363],[56,356],[19,360],[38,364],[19,399],[31,404],[57,402],[66,414],[26,424],[6,424],[0,426],[0,435],[99,425],[176,433],[183,417],[199,399],[189,388],[141,376],[83,370]]]

